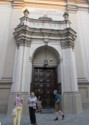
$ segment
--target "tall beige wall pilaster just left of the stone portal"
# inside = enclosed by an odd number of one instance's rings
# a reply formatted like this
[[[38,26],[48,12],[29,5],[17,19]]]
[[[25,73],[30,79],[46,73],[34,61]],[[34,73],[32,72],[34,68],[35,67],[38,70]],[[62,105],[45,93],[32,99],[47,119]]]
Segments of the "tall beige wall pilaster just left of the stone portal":
[[[23,16],[23,12],[21,9],[13,8],[12,9],[12,15],[10,19],[10,28],[8,31],[8,45],[7,45],[7,51],[6,51],[6,57],[5,57],[5,63],[4,63],[4,69],[3,69],[3,77],[11,77],[13,76],[13,67],[14,67],[14,61],[15,61],[15,51],[16,51],[16,44],[14,39],[14,29],[17,27],[17,25],[20,23],[20,18]]]

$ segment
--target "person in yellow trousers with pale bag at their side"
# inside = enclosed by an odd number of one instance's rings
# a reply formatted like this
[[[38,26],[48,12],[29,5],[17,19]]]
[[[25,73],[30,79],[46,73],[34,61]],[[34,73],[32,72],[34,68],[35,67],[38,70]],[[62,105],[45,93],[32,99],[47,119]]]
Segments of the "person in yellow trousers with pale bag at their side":
[[[16,108],[16,115],[13,116],[13,125],[20,125],[22,105],[23,105],[23,98],[21,97],[20,92],[17,92],[14,104]]]

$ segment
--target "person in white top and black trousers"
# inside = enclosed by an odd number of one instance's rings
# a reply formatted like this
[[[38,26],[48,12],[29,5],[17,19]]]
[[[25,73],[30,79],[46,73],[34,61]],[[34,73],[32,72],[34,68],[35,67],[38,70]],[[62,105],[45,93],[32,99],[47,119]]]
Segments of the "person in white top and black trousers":
[[[32,125],[37,125],[36,123],[36,103],[37,97],[35,96],[34,92],[31,92],[30,97],[28,98],[28,105],[29,105],[29,115],[30,121]]]

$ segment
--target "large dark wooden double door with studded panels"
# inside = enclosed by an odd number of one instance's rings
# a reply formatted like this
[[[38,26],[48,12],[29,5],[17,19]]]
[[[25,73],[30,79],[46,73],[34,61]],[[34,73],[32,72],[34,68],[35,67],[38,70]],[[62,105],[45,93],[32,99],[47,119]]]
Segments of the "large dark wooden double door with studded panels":
[[[43,108],[54,106],[54,89],[58,88],[56,68],[33,68],[33,80],[31,90],[36,96],[41,97]]]

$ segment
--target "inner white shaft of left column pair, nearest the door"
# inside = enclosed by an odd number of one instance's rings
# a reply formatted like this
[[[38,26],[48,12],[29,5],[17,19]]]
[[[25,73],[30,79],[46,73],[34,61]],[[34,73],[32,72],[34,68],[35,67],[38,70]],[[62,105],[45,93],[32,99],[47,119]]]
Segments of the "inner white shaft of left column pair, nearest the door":
[[[30,92],[31,80],[32,80],[32,58],[30,57],[30,47],[25,47],[21,92],[23,93]]]

